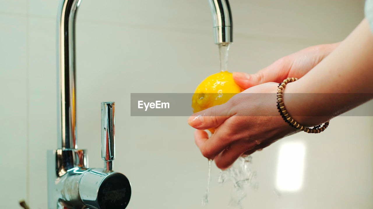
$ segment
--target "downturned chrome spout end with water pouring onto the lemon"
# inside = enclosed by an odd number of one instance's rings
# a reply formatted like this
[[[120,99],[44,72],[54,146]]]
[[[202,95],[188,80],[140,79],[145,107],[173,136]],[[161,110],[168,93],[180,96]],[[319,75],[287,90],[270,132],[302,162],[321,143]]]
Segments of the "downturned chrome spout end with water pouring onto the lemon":
[[[209,4],[213,18],[215,44],[228,45],[232,43],[232,12],[228,0],[209,0]]]

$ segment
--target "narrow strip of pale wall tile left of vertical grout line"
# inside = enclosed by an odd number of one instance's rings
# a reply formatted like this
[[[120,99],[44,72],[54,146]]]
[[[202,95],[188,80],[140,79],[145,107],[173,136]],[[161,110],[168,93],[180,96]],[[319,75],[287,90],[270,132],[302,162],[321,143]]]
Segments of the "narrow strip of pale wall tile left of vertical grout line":
[[[0,205],[16,208],[28,183],[27,19],[0,15],[0,28]]]

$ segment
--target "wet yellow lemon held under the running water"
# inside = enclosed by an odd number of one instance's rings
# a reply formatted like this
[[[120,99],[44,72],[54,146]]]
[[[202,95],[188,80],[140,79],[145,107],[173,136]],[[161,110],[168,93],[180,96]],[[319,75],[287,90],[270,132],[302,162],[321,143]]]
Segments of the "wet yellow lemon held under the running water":
[[[200,112],[209,107],[224,104],[243,90],[235,83],[232,73],[228,71],[210,75],[195,89],[192,96],[193,112]],[[214,133],[214,129],[209,129],[209,131]]]

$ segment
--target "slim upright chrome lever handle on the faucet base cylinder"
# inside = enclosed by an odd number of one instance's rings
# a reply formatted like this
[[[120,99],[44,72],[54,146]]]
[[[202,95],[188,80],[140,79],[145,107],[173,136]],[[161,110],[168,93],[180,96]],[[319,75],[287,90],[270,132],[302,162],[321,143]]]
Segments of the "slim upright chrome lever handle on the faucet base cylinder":
[[[114,102],[101,102],[101,158],[104,172],[113,171],[115,158],[115,108]]]

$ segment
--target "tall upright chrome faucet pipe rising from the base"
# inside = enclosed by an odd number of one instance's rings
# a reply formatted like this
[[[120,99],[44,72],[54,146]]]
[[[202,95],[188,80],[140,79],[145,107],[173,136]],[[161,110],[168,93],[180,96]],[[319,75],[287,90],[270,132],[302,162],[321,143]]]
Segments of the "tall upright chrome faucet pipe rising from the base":
[[[57,148],[77,149],[75,18],[81,0],[61,0],[57,14]]]

